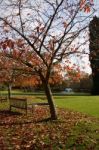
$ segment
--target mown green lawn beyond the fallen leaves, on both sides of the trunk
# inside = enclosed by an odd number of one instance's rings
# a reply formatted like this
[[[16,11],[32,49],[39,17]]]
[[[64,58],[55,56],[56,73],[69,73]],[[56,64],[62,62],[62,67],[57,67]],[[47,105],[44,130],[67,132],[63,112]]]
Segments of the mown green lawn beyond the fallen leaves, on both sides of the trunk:
[[[27,97],[28,103],[46,101],[45,95],[13,95],[18,97]],[[67,108],[73,111],[82,112],[84,114],[99,118],[99,96],[54,96],[54,101],[57,107]],[[3,106],[4,105],[4,106]],[[3,107],[9,108],[9,103],[0,104],[0,109]]]

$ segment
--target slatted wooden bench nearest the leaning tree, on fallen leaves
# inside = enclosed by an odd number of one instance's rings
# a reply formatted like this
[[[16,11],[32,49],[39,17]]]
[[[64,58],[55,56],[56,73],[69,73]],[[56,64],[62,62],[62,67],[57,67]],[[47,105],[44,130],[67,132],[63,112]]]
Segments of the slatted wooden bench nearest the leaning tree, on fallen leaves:
[[[25,110],[27,114],[27,99],[26,98],[13,97],[9,99],[9,103],[10,103],[10,111],[11,111],[11,108],[14,107],[14,108]]]

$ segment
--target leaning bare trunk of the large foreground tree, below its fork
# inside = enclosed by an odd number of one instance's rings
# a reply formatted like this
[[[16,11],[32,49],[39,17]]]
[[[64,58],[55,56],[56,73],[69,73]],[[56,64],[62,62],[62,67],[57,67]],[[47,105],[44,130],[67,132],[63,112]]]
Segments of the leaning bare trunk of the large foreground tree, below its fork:
[[[57,119],[57,112],[56,112],[56,108],[54,105],[52,92],[50,89],[50,85],[46,82],[44,83],[44,89],[45,89],[45,94],[47,96],[47,100],[48,100],[49,107],[50,107],[51,119],[56,120]]]

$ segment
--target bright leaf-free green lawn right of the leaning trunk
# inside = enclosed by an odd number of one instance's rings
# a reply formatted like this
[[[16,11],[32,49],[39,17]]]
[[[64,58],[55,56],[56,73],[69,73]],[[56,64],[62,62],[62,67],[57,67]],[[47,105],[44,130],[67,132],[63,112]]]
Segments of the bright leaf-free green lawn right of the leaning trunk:
[[[56,96],[58,107],[69,108],[99,118],[99,96]]]

